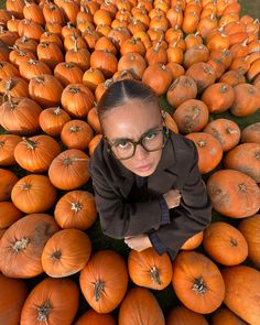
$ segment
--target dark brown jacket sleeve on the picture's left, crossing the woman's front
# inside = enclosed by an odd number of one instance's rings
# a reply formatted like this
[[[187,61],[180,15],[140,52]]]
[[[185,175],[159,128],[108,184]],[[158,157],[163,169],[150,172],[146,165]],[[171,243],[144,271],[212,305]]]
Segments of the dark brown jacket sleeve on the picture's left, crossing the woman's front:
[[[109,186],[106,178],[91,169],[95,201],[102,232],[116,239],[137,236],[161,225],[169,224],[170,217],[162,213],[162,201],[127,203]]]

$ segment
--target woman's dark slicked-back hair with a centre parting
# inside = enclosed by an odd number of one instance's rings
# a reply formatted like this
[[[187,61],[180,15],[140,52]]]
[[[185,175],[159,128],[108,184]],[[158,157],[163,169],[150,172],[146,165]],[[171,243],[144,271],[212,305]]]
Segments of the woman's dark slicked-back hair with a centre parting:
[[[158,105],[159,107],[159,97],[153,89],[145,84],[134,79],[123,79],[113,83],[105,91],[97,105],[100,123],[102,123],[104,116],[107,111],[126,104],[128,100],[134,99]]]

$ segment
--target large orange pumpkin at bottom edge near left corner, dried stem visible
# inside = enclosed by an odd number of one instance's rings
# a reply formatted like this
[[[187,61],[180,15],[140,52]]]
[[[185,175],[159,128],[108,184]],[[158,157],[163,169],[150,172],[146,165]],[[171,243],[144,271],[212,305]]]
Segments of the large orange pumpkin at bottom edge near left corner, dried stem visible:
[[[72,279],[46,278],[37,283],[22,308],[21,325],[71,325],[76,315],[79,290]]]

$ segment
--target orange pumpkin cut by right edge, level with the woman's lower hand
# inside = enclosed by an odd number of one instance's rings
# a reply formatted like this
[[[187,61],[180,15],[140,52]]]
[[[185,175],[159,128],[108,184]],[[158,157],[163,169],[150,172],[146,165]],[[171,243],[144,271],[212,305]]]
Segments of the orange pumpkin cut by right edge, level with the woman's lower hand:
[[[242,219],[238,229],[248,242],[248,258],[260,269],[260,214]]]

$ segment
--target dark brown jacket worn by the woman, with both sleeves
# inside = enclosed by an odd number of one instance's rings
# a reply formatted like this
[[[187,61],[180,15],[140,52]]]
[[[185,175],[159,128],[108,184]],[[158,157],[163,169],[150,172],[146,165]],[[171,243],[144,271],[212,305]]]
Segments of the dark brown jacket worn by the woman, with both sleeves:
[[[182,245],[212,220],[212,204],[198,172],[195,144],[171,133],[142,194],[137,187],[137,175],[111,156],[107,148],[101,140],[89,162],[104,234],[116,239],[155,234],[173,259]],[[180,189],[181,205],[170,210],[170,223],[162,225],[160,198],[171,188]]]

